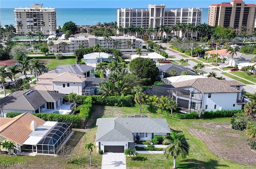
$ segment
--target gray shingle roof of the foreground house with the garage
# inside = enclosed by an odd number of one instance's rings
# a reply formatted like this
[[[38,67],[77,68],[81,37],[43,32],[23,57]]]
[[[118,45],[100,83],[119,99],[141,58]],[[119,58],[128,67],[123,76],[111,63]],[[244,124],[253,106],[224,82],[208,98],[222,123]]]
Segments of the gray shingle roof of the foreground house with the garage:
[[[98,118],[95,141],[133,142],[133,133],[170,133],[162,118]]]

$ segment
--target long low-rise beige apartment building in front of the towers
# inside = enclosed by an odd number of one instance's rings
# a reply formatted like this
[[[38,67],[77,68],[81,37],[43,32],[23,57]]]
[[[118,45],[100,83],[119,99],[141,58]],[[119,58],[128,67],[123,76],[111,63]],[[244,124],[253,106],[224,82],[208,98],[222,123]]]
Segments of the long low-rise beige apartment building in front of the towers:
[[[54,45],[49,46],[49,53],[74,53],[76,49],[79,49],[80,45],[85,48],[95,46],[97,43],[102,48],[115,48],[115,49],[136,49],[142,48],[143,40],[136,38],[135,36],[123,35],[123,36],[110,36],[110,40],[104,39],[104,37],[97,37],[88,33],[76,34],[73,37],[69,37],[68,40],[64,39],[64,36],[53,40]],[[49,40],[50,41],[50,40]],[[48,41],[48,43],[49,43]],[[118,44],[115,42],[120,41]],[[130,41],[131,45],[128,45],[126,41]]]

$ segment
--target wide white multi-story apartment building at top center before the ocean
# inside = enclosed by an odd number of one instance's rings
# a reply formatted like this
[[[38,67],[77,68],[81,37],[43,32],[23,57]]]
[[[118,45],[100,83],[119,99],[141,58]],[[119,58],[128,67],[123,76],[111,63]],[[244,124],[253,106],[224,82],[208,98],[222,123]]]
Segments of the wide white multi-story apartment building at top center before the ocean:
[[[155,26],[174,26],[177,22],[181,24],[192,24],[197,26],[202,20],[202,9],[181,8],[180,10],[166,9],[164,4],[148,5],[146,10],[132,8],[121,8],[117,10],[117,24],[122,28],[138,26],[147,30]]]

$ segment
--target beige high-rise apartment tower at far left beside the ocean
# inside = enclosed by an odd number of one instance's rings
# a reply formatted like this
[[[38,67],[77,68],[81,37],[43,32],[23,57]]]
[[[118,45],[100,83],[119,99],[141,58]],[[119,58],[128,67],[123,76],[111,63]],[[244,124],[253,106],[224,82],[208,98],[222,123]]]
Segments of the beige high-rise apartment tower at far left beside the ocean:
[[[14,9],[16,32],[27,34],[29,31],[41,31],[43,34],[56,33],[55,8],[43,8],[42,4],[30,5],[30,8]],[[44,25],[42,25],[42,21]],[[23,26],[18,26],[21,22]]]

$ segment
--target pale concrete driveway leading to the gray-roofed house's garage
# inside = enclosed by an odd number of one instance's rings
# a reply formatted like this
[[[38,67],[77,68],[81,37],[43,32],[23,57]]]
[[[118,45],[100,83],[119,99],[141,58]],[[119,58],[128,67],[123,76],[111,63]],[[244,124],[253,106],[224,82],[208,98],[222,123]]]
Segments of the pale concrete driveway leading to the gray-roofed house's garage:
[[[101,169],[126,169],[126,155],[124,153],[104,153]]]

